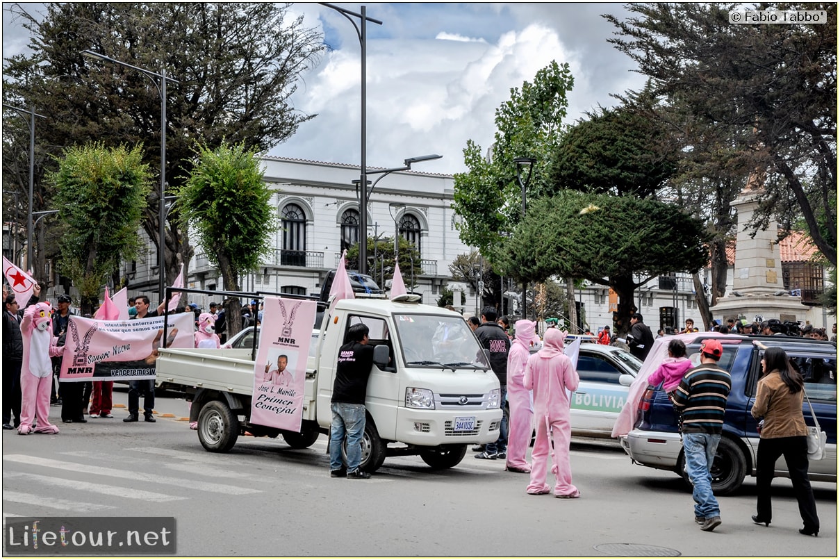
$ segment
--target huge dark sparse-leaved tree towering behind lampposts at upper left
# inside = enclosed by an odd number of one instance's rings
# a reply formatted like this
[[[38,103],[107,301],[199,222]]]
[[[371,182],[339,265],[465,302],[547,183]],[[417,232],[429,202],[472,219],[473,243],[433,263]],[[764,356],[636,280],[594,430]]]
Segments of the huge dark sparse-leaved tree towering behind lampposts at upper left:
[[[265,151],[314,117],[297,111],[291,95],[326,47],[302,17],[288,17],[288,4],[48,3],[43,20],[18,4],[13,9],[33,39],[31,53],[5,60],[3,101],[32,104],[45,114],[38,123],[44,147],[142,140],[144,161],[160,170],[160,94],[153,80],[89,59],[83,50],[156,73],[165,70],[178,81],[167,86],[166,107],[166,178],[173,187],[190,173],[195,139],[207,145],[228,139]],[[10,163],[4,151],[4,175]],[[48,192],[43,200],[35,198],[50,207]],[[171,281],[192,249],[175,212],[161,243],[158,203],[155,190],[143,228],[164,247]]]

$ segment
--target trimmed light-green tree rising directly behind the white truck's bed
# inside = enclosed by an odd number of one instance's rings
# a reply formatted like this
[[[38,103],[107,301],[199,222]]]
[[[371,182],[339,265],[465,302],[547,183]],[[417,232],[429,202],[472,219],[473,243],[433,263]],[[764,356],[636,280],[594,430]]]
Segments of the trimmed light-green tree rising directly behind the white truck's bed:
[[[239,291],[240,276],[262,262],[278,224],[255,150],[223,142],[198,144],[192,173],[175,189],[182,225],[222,273],[224,289]],[[230,335],[241,329],[239,300],[225,301]]]

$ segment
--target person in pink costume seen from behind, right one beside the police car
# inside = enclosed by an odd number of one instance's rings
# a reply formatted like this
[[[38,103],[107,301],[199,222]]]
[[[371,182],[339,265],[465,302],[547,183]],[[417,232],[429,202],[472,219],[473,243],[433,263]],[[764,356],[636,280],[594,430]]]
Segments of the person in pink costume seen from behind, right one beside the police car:
[[[531,453],[531,483],[528,494],[549,494],[546,484],[546,463],[549,451],[554,466],[551,472],[557,479],[554,496],[557,498],[580,498],[580,492],[572,484],[572,470],[569,463],[569,445],[572,427],[569,417],[570,391],[578,388],[580,378],[568,356],[563,353],[563,340],[567,333],[549,328],[543,338],[543,348],[528,358],[525,366],[524,384],[533,390],[534,421],[537,424],[537,440]]]

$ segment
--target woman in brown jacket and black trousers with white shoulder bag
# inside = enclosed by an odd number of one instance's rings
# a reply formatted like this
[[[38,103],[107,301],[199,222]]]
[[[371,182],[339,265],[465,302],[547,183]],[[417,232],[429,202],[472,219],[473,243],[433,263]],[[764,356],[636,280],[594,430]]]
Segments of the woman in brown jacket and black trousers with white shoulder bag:
[[[764,523],[764,526],[770,524],[773,515],[770,483],[776,461],[784,455],[799,502],[799,514],[805,524],[799,532],[816,536],[820,531],[820,520],[816,516],[814,492],[808,480],[808,430],[802,416],[805,394],[802,375],[790,367],[787,354],[781,348],[767,348],[761,366],[764,373],[759,379],[752,410],[756,419],[764,417],[756,459],[758,514],[753,516],[753,521]]]

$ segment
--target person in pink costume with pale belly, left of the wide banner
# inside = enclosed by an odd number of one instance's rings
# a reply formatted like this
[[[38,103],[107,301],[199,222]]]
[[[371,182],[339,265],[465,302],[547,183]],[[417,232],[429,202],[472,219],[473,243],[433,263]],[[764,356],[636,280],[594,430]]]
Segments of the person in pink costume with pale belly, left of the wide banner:
[[[58,427],[50,424],[50,395],[52,394],[52,362],[64,348],[57,346],[58,338],[52,336],[52,311],[49,301],[29,306],[20,322],[24,336],[24,363],[20,369],[20,389],[23,401],[20,407],[18,434],[27,436],[33,432],[32,422],[38,416],[38,427],[34,432],[58,433]]]

